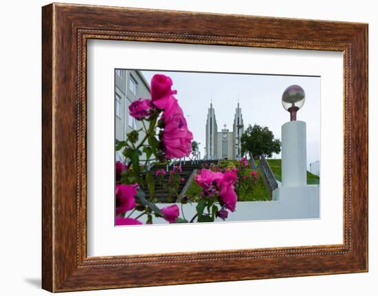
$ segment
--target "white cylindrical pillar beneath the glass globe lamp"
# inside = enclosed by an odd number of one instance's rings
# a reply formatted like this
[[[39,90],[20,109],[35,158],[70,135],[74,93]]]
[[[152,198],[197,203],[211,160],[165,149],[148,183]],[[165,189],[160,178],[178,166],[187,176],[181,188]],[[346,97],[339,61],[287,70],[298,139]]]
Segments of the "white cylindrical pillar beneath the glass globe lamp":
[[[306,122],[282,125],[282,187],[307,185]]]

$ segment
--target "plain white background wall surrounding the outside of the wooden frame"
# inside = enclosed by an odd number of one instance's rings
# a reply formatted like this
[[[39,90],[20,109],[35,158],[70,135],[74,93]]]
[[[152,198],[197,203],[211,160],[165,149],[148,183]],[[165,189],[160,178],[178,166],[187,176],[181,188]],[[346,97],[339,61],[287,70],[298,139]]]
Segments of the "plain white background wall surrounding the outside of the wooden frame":
[[[89,0],[91,3],[328,19],[369,23],[369,78],[378,80],[378,19],[375,1],[203,1]],[[3,1],[1,21],[1,244],[0,291],[3,295],[49,295],[39,286],[41,274],[41,5],[49,1]],[[141,20],[143,21],[143,20]],[[19,78],[23,77],[20,87]],[[370,99],[377,97],[370,83]],[[370,151],[377,151],[377,100],[370,100]],[[22,135],[22,136],[21,136]],[[27,148],[27,149],[25,149]],[[25,155],[25,153],[27,153]],[[376,155],[370,155],[370,273],[93,291],[72,295],[375,295],[378,290]],[[225,235],[227,238],[227,235]],[[67,295],[71,295],[68,293]]]

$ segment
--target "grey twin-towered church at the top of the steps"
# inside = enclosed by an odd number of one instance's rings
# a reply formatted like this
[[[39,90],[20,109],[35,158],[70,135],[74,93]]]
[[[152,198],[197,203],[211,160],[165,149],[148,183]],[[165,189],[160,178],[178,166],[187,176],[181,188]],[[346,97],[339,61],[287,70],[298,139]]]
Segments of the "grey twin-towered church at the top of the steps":
[[[215,111],[211,103],[208,109],[208,119],[206,120],[205,159],[240,159],[243,131],[243,116],[241,115],[239,103],[235,109],[232,131],[224,124],[220,132],[218,131]]]

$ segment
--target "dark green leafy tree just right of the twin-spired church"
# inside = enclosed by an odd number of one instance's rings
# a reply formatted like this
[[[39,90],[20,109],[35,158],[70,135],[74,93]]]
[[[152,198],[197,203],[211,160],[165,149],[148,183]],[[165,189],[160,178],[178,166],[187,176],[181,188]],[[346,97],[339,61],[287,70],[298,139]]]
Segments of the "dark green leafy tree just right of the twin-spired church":
[[[267,126],[249,124],[241,136],[242,155],[248,153],[249,157],[260,159],[262,156],[269,158],[273,153],[280,153],[280,151],[281,141],[274,139],[273,133]]]

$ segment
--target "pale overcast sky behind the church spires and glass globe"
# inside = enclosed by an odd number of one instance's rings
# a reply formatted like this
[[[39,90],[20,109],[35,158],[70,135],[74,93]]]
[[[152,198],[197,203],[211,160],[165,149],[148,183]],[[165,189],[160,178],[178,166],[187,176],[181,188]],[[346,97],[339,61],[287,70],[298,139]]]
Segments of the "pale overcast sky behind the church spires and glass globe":
[[[172,78],[188,128],[194,140],[201,143],[201,155],[211,100],[218,131],[223,124],[232,130],[236,105],[240,102],[245,128],[249,124],[268,126],[274,137],[281,139],[281,126],[290,120],[281,104],[282,93],[289,85],[298,84],[306,93],[306,101],[298,111],[297,119],[307,123],[307,167],[310,162],[320,160],[320,77],[171,71],[142,73],[148,82],[155,73]],[[280,158],[280,155],[273,158]]]

